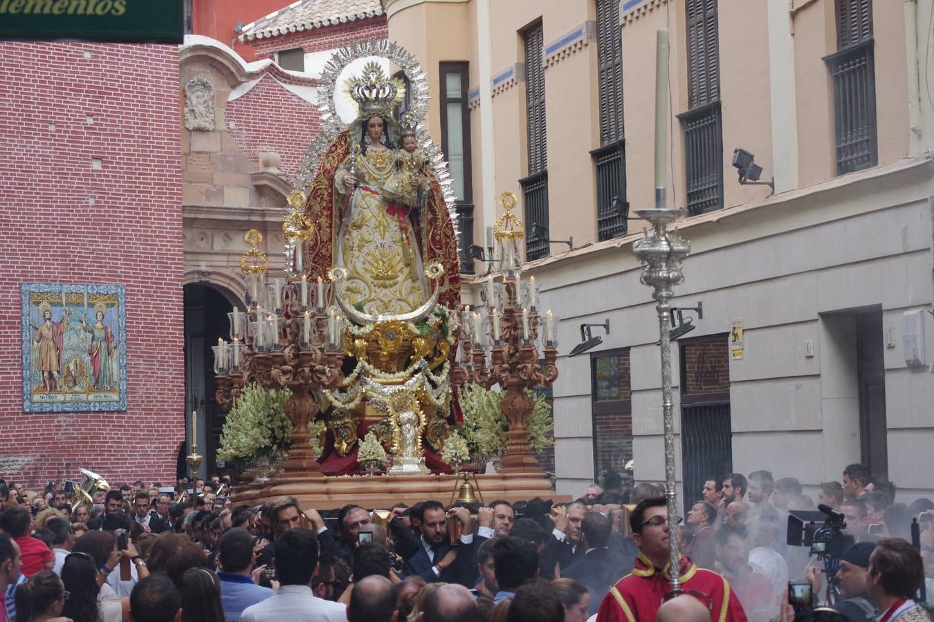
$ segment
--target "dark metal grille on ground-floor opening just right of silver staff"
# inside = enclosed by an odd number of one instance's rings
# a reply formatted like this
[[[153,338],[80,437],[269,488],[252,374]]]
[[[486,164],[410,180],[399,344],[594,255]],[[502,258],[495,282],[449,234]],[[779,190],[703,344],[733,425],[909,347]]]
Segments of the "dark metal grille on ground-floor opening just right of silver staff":
[[[707,477],[733,470],[729,404],[681,408],[681,454],[686,511],[701,498]]]

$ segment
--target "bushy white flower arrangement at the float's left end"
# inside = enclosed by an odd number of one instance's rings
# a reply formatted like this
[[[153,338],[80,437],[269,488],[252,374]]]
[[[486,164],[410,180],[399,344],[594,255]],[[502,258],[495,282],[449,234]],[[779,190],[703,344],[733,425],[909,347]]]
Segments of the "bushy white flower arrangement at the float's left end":
[[[291,422],[285,404],[290,395],[289,389],[263,389],[255,383],[244,387],[220,432],[218,459],[250,461],[289,449]]]

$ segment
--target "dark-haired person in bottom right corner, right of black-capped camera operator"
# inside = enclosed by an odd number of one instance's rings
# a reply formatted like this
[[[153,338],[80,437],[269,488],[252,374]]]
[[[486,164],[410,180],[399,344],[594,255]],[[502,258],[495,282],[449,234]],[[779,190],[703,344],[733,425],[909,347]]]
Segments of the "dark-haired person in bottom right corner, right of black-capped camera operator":
[[[927,621],[931,617],[914,594],[924,581],[921,554],[899,538],[883,538],[870,555],[867,591],[882,615],[879,622]]]

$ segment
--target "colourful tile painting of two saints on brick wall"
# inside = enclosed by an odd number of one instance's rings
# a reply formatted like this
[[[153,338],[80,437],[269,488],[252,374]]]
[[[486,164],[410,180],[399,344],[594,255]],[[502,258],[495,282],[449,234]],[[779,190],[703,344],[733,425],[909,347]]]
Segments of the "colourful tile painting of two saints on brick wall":
[[[22,283],[22,409],[126,410],[123,285]]]

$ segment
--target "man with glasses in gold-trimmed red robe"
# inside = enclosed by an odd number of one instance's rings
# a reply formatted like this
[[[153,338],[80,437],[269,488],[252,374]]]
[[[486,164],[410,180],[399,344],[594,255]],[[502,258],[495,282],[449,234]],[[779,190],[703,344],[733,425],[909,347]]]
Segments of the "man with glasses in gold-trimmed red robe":
[[[664,497],[645,499],[630,514],[632,540],[639,547],[635,568],[603,598],[598,622],[654,620],[662,601],[670,600],[668,507]],[[709,609],[714,622],[745,622],[743,606],[721,575],[703,570],[681,556],[681,593]]]

